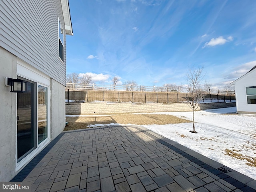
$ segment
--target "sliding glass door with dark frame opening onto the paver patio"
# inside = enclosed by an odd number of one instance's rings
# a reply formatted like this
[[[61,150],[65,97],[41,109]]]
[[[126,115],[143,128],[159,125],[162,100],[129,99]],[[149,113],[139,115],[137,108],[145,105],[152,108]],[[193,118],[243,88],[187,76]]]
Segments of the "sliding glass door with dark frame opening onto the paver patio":
[[[17,159],[27,156],[48,138],[48,87],[28,82],[28,91],[17,93]]]

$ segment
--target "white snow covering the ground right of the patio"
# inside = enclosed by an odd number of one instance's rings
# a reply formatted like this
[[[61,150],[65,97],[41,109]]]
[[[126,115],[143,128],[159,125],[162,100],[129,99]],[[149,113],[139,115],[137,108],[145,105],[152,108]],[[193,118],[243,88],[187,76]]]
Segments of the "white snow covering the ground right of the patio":
[[[189,132],[192,123],[143,126],[256,180],[256,167],[247,165],[251,161],[255,166],[256,161],[256,115],[235,112],[236,107],[195,112],[198,134]],[[192,112],[150,114],[192,119]],[[234,152],[242,160],[226,152]]]

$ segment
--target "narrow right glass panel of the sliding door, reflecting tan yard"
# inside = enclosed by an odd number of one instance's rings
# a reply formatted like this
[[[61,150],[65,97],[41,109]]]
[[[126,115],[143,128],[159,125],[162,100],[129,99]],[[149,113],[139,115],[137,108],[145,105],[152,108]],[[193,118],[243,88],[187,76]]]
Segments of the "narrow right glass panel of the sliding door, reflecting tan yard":
[[[47,135],[47,87],[37,86],[38,91],[38,144],[45,140]]]

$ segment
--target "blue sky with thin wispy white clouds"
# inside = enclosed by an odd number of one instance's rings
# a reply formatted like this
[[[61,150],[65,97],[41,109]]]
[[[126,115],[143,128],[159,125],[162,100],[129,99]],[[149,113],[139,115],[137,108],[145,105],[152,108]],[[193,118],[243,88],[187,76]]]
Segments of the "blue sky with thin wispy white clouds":
[[[67,73],[96,84],[186,84],[188,68],[222,89],[256,65],[255,0],[71,0]]]

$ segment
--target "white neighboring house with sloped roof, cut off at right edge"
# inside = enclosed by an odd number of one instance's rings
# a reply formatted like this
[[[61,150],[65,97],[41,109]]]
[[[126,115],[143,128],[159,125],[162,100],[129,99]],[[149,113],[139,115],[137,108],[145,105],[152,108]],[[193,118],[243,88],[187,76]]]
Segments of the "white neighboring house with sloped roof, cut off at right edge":
[[[237,112],[256,114],[256,66],[231,84],[236,90]]]

